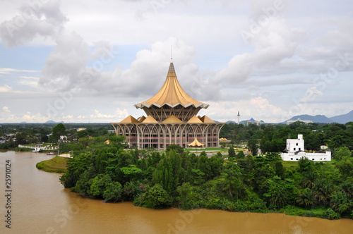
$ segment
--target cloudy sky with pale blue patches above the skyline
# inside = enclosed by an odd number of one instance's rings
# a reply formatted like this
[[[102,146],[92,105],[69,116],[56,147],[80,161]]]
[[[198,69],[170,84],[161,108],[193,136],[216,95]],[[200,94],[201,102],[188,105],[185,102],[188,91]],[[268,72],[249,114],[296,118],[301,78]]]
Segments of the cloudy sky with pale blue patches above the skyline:
[[[181,87],[215,121],[353,110],[353,1],[0,0],[0,123],[116,123]]]

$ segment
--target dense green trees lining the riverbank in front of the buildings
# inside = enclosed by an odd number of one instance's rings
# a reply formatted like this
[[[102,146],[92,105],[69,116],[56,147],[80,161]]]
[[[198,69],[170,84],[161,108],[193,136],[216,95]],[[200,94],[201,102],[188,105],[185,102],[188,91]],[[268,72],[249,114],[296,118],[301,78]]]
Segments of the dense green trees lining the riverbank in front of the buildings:
[[[74,154],[61,177],[64,186],[83,196],[155,209],[292,211],[353,218],[351,154],[324,164],[308,159],[285,162],[277,153],[244,156],[230,149],[225,160],[220,154],[196,156],[177,145],[163,153],[126,150],[121,140]]]

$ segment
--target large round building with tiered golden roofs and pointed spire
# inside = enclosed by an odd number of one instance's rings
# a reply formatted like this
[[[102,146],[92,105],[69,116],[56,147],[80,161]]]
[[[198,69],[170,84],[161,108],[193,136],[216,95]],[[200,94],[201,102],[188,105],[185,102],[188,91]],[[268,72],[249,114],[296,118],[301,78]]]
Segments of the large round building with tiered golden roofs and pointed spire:
[[[187,147],[195,140],[205,147],[218,147],[220,129],[224,123],[215,123],[207,116],[197,116],[208,104],[196,101],[183,90],[171,62],[167,79],[160,91],[147,101],[134,105],[146,116],[126,117],[120,123],[111,123],[116,135],[125,135],[129,147],[166,149],[169,144]]]

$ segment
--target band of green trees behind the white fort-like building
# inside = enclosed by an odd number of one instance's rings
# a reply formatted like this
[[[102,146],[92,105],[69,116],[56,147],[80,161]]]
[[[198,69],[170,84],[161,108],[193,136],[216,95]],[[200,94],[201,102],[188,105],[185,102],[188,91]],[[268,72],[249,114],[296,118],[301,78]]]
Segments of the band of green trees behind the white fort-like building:
[[[305,149],[317,151],[321,145],[327,145],[333,156],[340,147],[353,150],[352,122],[344,124],[318,124],[295,122],[291,125],[249,125],[229,123],[223,126],[220,136],[232,141],[233,145],[246,145],[250,152],[256,154],[257,149],[262,153],[282,152],[288,138],[297,138],[302,134]]]

